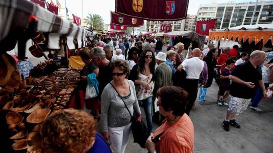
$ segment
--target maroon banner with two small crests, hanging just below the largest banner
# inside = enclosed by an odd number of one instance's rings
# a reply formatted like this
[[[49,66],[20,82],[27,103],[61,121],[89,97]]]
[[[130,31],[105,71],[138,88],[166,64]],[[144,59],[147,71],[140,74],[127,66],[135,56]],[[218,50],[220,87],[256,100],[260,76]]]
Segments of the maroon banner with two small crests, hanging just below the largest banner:
[[[125,15],[118,15],[118,14],[115,14],[115,12],[111,11],[111,23],[120,25],[120,26],[142,27],[143,19],[131,18]]]

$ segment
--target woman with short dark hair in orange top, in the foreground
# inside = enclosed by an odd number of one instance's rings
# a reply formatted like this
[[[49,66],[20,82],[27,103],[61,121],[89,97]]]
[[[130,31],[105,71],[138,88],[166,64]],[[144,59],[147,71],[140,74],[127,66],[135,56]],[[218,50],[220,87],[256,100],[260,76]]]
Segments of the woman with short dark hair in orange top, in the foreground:
[[[185,113],[188,93],[181,87],[164,86],[157,91],[159,113],[166,117],[153,136],[146,141],[150,153],[191,153],[194,127]],[[160,137],[160,138],[159,138]]]

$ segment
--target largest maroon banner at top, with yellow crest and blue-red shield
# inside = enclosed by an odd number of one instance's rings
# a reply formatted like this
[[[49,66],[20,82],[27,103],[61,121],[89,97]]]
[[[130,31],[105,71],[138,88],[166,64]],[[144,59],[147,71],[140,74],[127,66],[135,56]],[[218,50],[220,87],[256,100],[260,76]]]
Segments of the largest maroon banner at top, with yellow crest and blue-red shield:
[[[185,19],[189,0],[116,0],[116,14],[152,21]]]

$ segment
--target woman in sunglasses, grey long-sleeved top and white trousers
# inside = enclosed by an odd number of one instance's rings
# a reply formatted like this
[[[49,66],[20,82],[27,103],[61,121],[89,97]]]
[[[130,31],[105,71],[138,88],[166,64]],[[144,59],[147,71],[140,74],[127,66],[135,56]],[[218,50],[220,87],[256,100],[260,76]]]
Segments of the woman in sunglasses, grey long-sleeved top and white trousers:
[[[118,59],[111,63],[111,68],[113,80],[106,85],[101,95],[102,133],[106,140],[110,134],[114,153],[124,153],[131,130],[130,113],[137,114],[137,120],[141,121],[141,111],[135,85],[126,79],[128,63]]]

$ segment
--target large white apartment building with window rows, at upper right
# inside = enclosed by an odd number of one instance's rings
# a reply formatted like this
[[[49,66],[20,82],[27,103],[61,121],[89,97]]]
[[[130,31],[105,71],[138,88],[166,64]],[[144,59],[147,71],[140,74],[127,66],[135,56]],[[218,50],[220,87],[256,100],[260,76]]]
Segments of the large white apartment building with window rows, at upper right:
[[[201,4],[197,20],[216,18],[216,29],[250,24],[256,2]],[[252,24],[273,23],[273,1],[261,0],[257,4]]]

